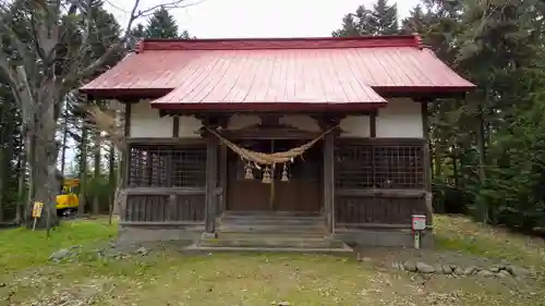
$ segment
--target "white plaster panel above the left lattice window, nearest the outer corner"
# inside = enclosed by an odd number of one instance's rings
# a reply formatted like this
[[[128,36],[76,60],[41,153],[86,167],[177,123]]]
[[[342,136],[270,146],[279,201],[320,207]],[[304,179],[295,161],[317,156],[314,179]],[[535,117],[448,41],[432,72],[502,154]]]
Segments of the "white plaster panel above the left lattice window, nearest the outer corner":
[[[172,118],[159,117],[159,111],[149,101],[131,106],[131,137],[172,137]]]

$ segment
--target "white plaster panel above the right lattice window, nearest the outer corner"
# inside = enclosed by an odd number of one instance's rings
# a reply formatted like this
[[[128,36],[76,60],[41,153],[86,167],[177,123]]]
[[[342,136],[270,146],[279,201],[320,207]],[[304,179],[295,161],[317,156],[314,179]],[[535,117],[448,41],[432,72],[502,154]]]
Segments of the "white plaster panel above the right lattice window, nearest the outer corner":
[[[390,99],[385,108],[378,111],[376,119],[376,136],[382,138],[421,138],[421,105],[409,98]]]

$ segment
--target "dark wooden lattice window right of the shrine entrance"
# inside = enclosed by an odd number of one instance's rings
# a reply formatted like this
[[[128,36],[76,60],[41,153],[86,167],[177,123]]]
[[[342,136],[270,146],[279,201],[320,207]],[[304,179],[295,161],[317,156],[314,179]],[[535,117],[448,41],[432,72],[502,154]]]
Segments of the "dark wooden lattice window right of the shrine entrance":
[[[338,188],[424,188],[424,144],[344,142],[335,149]]]

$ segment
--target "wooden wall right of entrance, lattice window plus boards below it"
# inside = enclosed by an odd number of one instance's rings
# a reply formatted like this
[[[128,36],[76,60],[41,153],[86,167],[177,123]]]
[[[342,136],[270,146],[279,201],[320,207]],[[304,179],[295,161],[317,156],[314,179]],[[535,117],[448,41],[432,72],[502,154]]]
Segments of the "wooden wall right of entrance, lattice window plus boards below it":
[[[336,227],[408,228],[414,213],[431,217],[424,144],[422,138],[336,139]]]

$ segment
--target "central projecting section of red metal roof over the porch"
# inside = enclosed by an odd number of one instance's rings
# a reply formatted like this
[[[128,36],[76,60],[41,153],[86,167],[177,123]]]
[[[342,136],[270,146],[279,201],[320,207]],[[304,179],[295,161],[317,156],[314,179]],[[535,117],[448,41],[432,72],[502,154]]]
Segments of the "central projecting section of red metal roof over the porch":
[[[244,110],[252,102],[279,109],[301,103],[304,110],[342,103],[368,109],[368,103],[386,103],[346,57],[330,49],[208,51],[177,77],[184,81],[153,101],[154,107]]]

